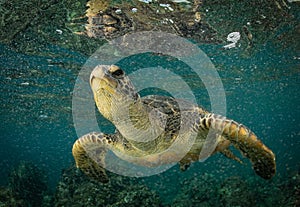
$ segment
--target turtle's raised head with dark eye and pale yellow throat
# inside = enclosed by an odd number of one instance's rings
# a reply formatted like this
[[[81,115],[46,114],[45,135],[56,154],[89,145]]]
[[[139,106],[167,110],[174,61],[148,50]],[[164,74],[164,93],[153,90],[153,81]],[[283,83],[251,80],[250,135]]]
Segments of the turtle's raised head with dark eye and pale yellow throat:
[[[90,85],[100,113],[110,121],[113,121],[113,113],[128,110],[139,99],[128,76],[116,65],[96,66],[90,76]]]

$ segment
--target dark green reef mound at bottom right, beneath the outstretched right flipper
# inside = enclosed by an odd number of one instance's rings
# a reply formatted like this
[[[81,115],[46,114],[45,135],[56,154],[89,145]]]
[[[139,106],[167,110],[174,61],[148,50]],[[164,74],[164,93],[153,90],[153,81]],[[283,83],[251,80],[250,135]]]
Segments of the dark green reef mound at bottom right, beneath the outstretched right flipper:
[[[299,206],[300,175],[264,181],[258,177],[213,175],[181,182],[181,191],[170,206]]]

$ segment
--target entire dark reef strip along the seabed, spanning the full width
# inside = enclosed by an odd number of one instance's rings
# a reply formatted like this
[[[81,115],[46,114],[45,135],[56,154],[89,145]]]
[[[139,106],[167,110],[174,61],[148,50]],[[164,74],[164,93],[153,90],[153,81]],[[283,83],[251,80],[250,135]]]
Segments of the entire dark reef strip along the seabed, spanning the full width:
[[[147,187],[142,179],[110,174],[102,184],[71,166],[62,171],[54,193],[47,193],[46,177],[36,166],[21,163],[0,188],[0,206],[299,206],[300,174],[289,179],[263,181],[232,176],[224,180],[210,174],[179,181],[168,196]]]

